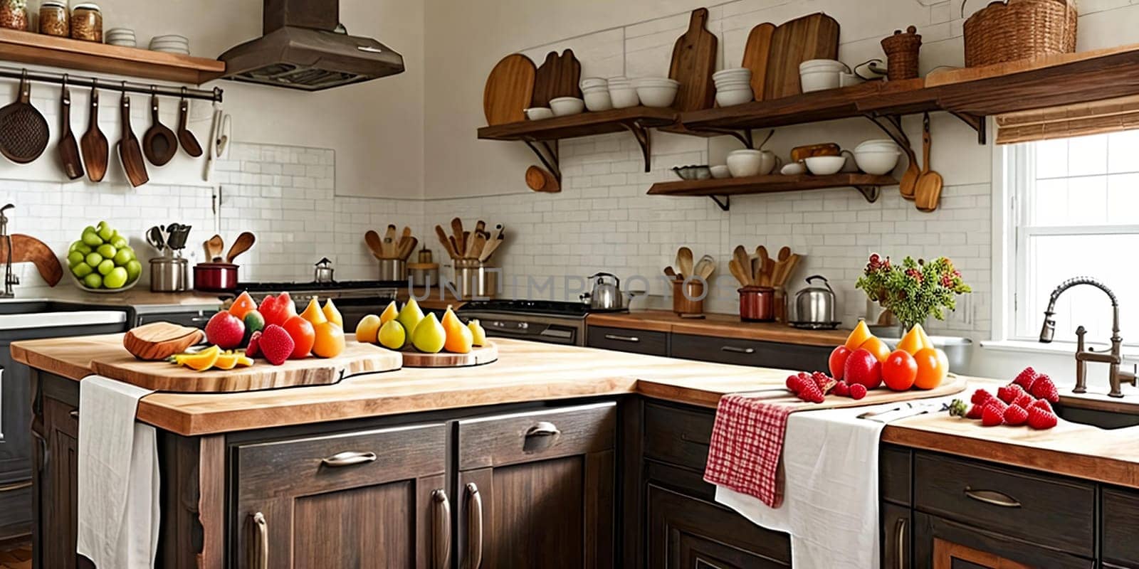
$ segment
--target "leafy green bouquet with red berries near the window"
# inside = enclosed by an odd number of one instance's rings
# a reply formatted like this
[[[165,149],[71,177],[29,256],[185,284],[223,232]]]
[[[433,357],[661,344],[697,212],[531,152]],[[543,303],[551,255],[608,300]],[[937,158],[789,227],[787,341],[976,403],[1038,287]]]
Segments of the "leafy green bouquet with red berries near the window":
[[[929,316],[945,320],[944,310],[957,307],[957,296],[973,291],[953,262],[945,257],[933,261],[906,257],[901,265],[894,265],[890,257],[882,258],[878,254],[870,255],[855,287],[892,312],[904,330]]]

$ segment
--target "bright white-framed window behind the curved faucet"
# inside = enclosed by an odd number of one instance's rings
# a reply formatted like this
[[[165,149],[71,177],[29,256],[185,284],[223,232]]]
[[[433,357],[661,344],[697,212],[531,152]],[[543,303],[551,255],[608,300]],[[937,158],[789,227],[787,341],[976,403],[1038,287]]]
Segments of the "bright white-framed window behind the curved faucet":
[[[1088,275],[1120,302],[1125,344],[1139,345],[1139,131],[1011,145],[1006,149],[1008,220],[1006,339],[1035,341],[1048,298],[1066,279]],[[1056,305],[1056,340],[1106,343],[1108,298],[1093,287]],[[1128,333],[1130,332],[1130,333]]]

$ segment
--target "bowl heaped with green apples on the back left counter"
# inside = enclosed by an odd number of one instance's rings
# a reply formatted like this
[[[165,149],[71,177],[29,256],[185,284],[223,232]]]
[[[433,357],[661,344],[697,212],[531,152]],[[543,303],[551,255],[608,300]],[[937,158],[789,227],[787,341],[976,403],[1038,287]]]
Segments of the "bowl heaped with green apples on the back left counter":
[[[126,238],[105,221],[83,228],[67,249],[67,267],[75,286],[88,292],[122,292],[134,288],[142,263]]]

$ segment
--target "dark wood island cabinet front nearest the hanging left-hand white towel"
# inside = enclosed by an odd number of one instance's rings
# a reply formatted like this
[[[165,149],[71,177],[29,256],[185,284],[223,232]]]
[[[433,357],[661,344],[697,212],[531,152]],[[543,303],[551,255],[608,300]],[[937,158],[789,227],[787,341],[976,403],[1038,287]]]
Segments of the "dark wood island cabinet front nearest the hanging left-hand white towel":
[[[446,427],[240,445],[233,567],[450,566]]]

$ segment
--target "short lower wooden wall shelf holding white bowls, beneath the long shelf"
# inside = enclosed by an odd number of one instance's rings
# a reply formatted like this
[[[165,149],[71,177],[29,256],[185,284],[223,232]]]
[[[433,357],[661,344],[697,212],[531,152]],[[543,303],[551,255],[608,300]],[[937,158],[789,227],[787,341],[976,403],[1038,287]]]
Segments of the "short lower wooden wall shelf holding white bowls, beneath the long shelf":
[[[825,190],[831,188],[854,188],[867,201],[878,200],[879,188],[896,185],[898,180],[886,175],[872,174],[831,174],[831,175],[782,175],[771,174],[752,178],[726,178],[721,180],[680,180],[677,182],[658,182],[649,188],[650,196],[744,196],[751,193],[777,193],[782,191]],[[715,200],[724,211],[730,201]]]

